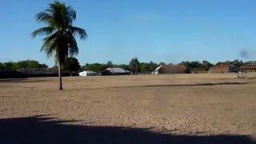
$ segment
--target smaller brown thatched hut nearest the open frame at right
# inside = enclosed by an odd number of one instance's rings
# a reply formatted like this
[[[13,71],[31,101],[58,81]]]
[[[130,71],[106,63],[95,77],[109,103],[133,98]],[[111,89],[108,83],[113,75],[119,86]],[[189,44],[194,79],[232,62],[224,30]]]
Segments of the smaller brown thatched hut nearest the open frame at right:
[[[212,66],[209,73],[234,73],[235,67],[230,64],[221,64]]]

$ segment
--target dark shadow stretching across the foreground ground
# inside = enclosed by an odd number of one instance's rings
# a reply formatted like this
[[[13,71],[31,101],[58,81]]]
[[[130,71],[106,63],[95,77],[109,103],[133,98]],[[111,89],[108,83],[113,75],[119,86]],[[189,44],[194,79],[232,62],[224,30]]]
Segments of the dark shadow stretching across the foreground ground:
[[[141,128],[78,126],[70,122],[45,116],[0,119],[0,143],[255,143],[244,135],[171,135]]]

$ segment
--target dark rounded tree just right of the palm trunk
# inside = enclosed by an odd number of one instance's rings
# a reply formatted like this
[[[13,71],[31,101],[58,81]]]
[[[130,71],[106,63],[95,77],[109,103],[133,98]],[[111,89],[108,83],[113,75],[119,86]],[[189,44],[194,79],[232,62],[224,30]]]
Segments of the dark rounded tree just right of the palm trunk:
[[[64,65],[64,70],[70,71],[70,76],[72,76],[72,72],[78,72],[78,70],[81,68],[78,59],[71,57],[66,58],[66,63]]]

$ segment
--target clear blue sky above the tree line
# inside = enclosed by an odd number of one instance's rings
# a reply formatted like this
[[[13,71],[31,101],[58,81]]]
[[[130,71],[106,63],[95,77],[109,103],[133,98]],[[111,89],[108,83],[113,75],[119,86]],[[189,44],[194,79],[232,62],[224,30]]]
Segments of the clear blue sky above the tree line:
[[[39,52],[42,37],[30,34],[42,24],[35,14],[53,1],[2,0],[0,62],[36,59],[53,66]],[[244,61],[256,58],[254,0],[70,0],[77,11],[75,26],[87,30],[78,40],[79,62],[178,63],[181,61]],[[242,58],[241,51],[250,53]]]

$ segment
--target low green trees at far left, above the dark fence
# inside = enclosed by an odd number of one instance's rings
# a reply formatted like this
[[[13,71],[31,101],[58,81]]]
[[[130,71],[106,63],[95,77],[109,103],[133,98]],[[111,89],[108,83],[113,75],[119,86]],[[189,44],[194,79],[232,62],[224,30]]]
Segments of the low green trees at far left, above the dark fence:
[[[39,63],[36,60],[25,60],[18,62],[0,62],[0,70],[22,70],[22,69],[35,69],[47,68],[44,63]]]

